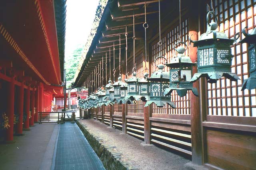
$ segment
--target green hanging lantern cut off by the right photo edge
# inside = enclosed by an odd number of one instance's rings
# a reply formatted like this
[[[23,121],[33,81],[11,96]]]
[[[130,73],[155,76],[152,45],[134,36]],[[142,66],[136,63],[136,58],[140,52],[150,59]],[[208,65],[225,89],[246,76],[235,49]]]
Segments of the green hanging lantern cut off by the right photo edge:
[[[249,53],[249,72],[250,77],[244,80],[242,90],[248,89],[252,90],[256,88],[256,28],[252,30],[250,34],[245,32],[245,28],[242,30],[245,38],[240,41],[240,43],[248,43],[248,53]]]

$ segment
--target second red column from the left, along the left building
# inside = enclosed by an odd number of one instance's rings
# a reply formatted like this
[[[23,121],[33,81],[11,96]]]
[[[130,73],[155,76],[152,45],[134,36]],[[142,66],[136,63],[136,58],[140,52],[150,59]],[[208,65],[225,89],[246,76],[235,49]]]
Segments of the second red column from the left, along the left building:
[[[17,135],[22,135],[23,128],[23,104],[24,104],[24,84],[22,83],[20,87],[18,87],[18,114],[19,114],[19,122],[17,125]]]

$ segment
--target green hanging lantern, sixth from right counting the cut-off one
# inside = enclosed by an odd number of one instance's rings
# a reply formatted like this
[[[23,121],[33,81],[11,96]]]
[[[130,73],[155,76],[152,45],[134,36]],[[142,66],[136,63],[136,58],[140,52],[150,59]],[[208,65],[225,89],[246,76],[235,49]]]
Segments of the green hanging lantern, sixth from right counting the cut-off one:
[[[133,68],[132,77],[126,80],[128,93],[125,96],[123,103],[134,104],[134,100],[136,100],[139,95],[139,86],[137,84],[138,81],[139,78],[137,78],[137,73],[135,68]]]

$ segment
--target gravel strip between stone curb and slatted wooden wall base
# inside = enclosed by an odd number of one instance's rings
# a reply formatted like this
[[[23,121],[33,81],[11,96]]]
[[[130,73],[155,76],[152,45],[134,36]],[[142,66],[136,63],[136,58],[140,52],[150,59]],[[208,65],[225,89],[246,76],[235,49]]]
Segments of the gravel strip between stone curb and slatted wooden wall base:
[[[140,170],[186,170],[184,164],[190,160],[160,149],[154,145],[143,147],[143,141],[130,135],[122,135],[122,131],[102,124],[94,119],[79,120],[87,130],[96,137],[100,137],[106,146],[115,146],[116,152],[121,154],[121,160],[132,164]]]

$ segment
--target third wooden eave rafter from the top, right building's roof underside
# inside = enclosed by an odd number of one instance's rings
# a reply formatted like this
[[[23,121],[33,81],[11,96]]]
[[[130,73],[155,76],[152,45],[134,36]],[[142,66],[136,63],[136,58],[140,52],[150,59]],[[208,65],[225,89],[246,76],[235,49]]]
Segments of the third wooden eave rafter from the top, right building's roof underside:
[[[138,24],[143,24],[145,22],[144,18],[136,18],[136,20],[134,21],[134,25],[138,25]],[[109,23],[106,23],[106,30],[118,30],[119,29],[124,29],[125,26],[131,26],[133,25],[133,21],[132,20],[127,20],[127,21],[111,21]]]

